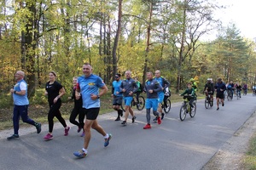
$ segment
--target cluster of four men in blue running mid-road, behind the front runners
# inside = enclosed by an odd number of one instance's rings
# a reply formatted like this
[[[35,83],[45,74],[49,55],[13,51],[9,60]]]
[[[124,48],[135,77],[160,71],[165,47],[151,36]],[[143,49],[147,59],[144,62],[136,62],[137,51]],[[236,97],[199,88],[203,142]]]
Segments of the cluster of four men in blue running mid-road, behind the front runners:
[[[120,117],[123,116],[123,111],[120,108],[124,100],[125,103],[125,119],[121,122],[122,125],[127,125],[127,119],[129,114],[131,114],[131,122],[135,122],[136,116],[134,111],[131,109],[131,101],[133,95],[138,95],[142,92],[147,94],[146,99],[146,119],[147,124],[144,129],[151,128],[150,126],[150,110],[153,110],[155,116],[154,121],[161,123],[164,119],[165,113],[163,113],[161,108],[161,103],[164,100],[165,89],[170,87],[170,82],[166,80],[165,77],[160,76],[160,71],[155,71],[155,77],[152,72],[147,72],[147,81],[145,82],[145,87],[142,88],[142,84],[137,78],[131,78],[131,71],[125,71],[125,79],[121,80],[120,74],[115,75],[115,81],[112,83],[112,97],[113,97],[113,109],[117,111],[118,116],[115,121],[120,121]],[[137,104],[139,105],[139,104]]]

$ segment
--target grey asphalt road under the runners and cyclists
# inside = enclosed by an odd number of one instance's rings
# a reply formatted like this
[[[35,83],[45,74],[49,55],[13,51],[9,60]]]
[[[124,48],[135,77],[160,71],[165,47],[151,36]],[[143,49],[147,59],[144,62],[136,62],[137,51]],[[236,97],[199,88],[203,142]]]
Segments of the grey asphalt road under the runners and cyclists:
[[[69,135],[64,136],[63,127],[55,123],[54,139],[50,141],[43,139],[48,125],[39,134],[34,127],[20,129],[20,139],[11,141],[6,137],[12,131],[2,131],[0,169],[199,170],[253,114],[255,99],[247,94],[225,101],[219,111],[215,104],[206,109],[200,100],[195,117],[188,115],[183,122],[178,115],[181,103],[172,104],[162,124],[153,122],[146,130],[145,111],[135,111],[136,122],[131,123],[130,116],[126,127],[114,122],[115,112],[99,116],[99,123],[113,139],[104,148],[102,136],[92,130],[89,155],[83,159],[73,156],[73,151],[83,146],[77,127],[71,126]]]

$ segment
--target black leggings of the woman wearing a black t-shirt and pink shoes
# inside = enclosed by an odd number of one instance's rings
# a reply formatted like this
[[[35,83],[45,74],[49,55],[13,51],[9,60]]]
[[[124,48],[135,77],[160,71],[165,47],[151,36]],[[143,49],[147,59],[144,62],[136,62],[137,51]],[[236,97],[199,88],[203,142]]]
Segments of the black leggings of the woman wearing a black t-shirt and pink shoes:
[[[55,104],[49,104],[48,122],[49,122],[49,133],[52,133],[54,127],[54,117],[56,117],[62,124],[63,127],[67,127],[67,124],[61,116],[61,101],[58,100]]]

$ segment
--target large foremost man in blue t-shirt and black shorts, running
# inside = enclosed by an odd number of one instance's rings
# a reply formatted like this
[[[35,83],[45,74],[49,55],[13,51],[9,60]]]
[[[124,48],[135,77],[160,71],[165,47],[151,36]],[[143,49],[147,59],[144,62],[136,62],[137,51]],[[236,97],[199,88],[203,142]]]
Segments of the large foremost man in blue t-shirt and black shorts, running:
[[[90,143],[90,128],[96,129],[98,133],[101,133],[105,139],[104,146],[107,147],[112,135],[105,133],[102,126],[100,126],[96,120],[100,111],[100,97],[106,94],[108,91],[107,86],[102,81],[101,77],[92,74],[92,67],[89,63],[83,65],[84,76],[78,78],[78,84],[76,88],[76,99],[82,96],[83,108],[82,113],[86,116],[84,122],[84,147],[82,150],[73,153],[74,156],[79,158],[87,156],[88,146]],[[99,92],[99,88],[101,91]]]

